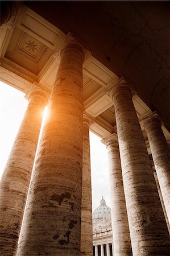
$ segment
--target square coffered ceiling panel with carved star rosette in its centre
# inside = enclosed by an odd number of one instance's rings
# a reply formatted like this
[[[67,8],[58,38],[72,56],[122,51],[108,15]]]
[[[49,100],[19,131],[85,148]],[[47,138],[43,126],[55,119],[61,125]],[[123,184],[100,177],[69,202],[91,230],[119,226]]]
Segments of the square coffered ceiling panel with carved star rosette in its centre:
[[[42,70],[65,39],[65,34],[26,6],[20,9],[10,36],[7,31],[9,30],[3,26],[1,29],[3,42],[0,43],[1,52],[4,54],[1,56],[13,62],[13,71],[18,64],[20,68],[27,69],[36,75],[36,81],[38,81],[40,73],[42,76]],[[22,73],[20,75],[23,76]]]

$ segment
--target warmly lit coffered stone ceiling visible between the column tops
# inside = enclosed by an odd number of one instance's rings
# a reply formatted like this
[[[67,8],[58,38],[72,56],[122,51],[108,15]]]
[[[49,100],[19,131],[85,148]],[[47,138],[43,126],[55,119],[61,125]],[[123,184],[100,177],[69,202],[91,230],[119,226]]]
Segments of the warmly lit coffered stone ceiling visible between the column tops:
[[[35,82],[51,91],[60,64],[60,46],[68,35],[24,5],[15,18],[13,30],[3,26],[0,33],[0,79],[25,93]],[[117,132],[114,102],[107,92],[120,82],[126,82],[125,77],[115,75],[94,56],[86,56],[84,111],[94,121],[90,130],[101,138]],[[133,102],[139,120],[151,113],[137,94]],[[163,131],[168,137],[164,126]]]

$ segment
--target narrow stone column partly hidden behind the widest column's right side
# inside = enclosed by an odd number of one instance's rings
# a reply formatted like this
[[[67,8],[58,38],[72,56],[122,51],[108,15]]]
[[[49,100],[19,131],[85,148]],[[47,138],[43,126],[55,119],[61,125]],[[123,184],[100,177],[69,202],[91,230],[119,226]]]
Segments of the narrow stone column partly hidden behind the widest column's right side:
[[[82,205],[81,205],[81,246],[80,255],[93,255],[92,229],[92,185],[90,170],[90,141],[89,127],[91,119],[83,115],[83,144],[82,144]]]

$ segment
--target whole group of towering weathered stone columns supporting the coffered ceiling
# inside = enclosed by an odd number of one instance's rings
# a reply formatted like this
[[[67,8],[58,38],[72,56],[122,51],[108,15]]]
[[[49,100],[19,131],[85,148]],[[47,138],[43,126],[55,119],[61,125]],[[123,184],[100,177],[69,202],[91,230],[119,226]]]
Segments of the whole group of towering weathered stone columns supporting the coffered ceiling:
[[[92,256],[90,124],[86,116],[83,121],[83,61],[84,48],[69,39],[61,47],[59,70],[31,184],[42,120],[39,112],[48,97],[37,90],[30,93],[30,103],[1,181],[3,255],[78,256],[81,252]],[[134,256],[168,256],[168,228],[131,88],[117,84],[108,93],[114,102],[117,122],[117,135],[104,140],[109,152],[114,209],[111,212],[114,255],[131,255],[132,249]],[[143,123],[169,218],[169,148],[157,117],[147,117]],[[98,255],[96,248],[95,251]],[[110,256],[108,245],[106,253]]]

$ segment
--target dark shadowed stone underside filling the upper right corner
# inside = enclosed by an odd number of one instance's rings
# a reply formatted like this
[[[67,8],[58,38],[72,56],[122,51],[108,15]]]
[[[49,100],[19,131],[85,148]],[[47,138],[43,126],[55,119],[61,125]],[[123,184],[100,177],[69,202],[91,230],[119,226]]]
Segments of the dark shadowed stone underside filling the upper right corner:
[[[170,130],[169,1],[26,1],[73,32],[102,64],[126,81]]]

